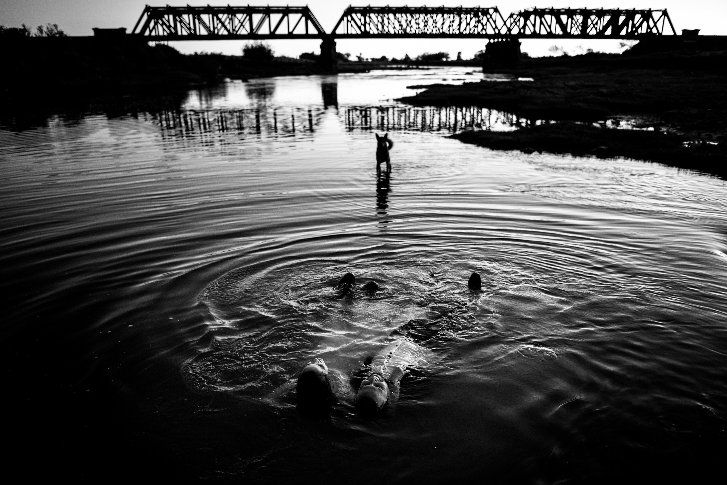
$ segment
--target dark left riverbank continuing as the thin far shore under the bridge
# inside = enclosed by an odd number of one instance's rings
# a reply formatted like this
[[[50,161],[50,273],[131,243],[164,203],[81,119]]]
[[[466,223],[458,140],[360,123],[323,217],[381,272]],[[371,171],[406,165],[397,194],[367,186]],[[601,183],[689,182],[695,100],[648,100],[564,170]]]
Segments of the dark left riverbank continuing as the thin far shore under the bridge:
[[[6,54],[0,73],[0,92],[6,97],[32,91],[89,93],[193,89],[220,83],[225,78],[247,80],[276,76],[310,76],[327,71],[314,59],[273,57],[269,60],[201,52],[181,54],[164,44],[150,46],[134,36],[121,37],[0,37]],[[468,65],[467,61],[439,65]],[[470,62],[476,65],[476,62]],[[384,60],[341,60],[340,73],[364,73],[372,69],[425,68]]]

